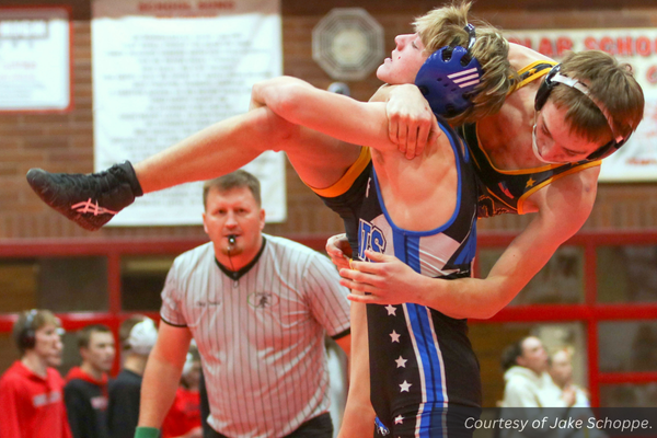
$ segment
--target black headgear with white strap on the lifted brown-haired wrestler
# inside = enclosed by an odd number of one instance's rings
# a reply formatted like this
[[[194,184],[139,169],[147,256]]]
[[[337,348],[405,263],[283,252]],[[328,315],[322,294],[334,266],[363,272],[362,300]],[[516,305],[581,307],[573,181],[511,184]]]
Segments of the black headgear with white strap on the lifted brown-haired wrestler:
[[[591,152],[587,157],[587,160],[601,160],[604,157],[611,155],[613,152],[619,150],[621,146],[625,145],[630,136],[623,137],[622,135],[615,131],[615,129],[613,128],[613,119],[611,117],[611,114],[609,114],[609,111],[607,110],[604,104],[602,104],[602,102],[598,101],[589,93],[588,87],[586,87],[586,84],[579,82],[577,79],[568,78],[567,76],[561,74],[560,71],[561,64],[557,64],[550,70],[548,74],[545,74],[545,79],[543,80],[543,82],[541,82],[541,85],[537,91],[537,96],[534,99],[534,110],[541,111],[541,108],[545,105],[545,102],[548,102],[548,97],[550,97],[552,89],[554,89],[560,83],[578,90],[588,99],[590,99],[591,102],[593,102],[596,106],[600,110],[604,118],[607,118],[609,128],[611,129],[611,132],[614,137],[613,140],[611,140],[607,145],[601,146],[600,148],[598,148],[598,150]]]

